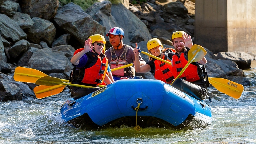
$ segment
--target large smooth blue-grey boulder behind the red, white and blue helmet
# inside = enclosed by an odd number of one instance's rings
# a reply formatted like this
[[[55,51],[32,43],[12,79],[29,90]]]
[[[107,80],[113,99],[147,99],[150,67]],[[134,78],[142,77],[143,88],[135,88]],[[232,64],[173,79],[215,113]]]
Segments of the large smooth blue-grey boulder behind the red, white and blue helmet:
[[[109,1],[95,3],[86,12],[106,27],[105,34],[113,27],[124,30],[124,44],[148,41],[151,35],[147,26],[122,4],[111,5]],[[108,41],[108,38],[106,39]]]

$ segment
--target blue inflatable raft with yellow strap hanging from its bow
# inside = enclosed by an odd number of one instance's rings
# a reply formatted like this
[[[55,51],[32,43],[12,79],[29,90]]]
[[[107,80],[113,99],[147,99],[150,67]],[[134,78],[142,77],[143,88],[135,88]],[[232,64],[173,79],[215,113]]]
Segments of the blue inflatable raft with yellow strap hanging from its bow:
[[[174,130],[206,128],[212,123],[209,105],[160,80],[118,80],[91,94],[67,100],[62,118],[86,130],[120,125]]]

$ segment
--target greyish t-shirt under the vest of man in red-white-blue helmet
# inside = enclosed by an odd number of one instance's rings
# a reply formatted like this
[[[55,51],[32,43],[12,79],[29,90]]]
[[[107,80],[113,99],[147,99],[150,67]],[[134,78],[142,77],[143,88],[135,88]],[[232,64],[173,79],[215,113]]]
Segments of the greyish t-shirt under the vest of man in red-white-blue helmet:
[[[128,51],[127,51],[127,53],[126,53],[126,61],[130,64],[130,63],[133,63],[133,60],[134,60],[134,53],[133,53],[133,48],[131,47],[131,46],[129,46],[129,45],[124,45],[124,46],[127,46],[127,47],[129,47],[129,49],[128,49]],[[113,48],[113,46],[111,47],[111,48]],[[107,59],[108,59],[108,64],[110,64],[110,61],[111,61],[111,52],[110,52],[110,49],[111,48],[109,48],[108,50],[106,50],[106,52],[105,52],[105,55],[106,55],[106,57],[107,57]],[[116,56],[119,58],[120,57],[120,55],[122,54],[122,52],[124,51],[124,47],[122,48],[122,49],[114,49],[114,51],[115,51],[115,53],[116,53]],[[140,56],[140,54],[139,54],[139,60],[140,61],[144,61],[142,58],[141,58],[141,56]]]

